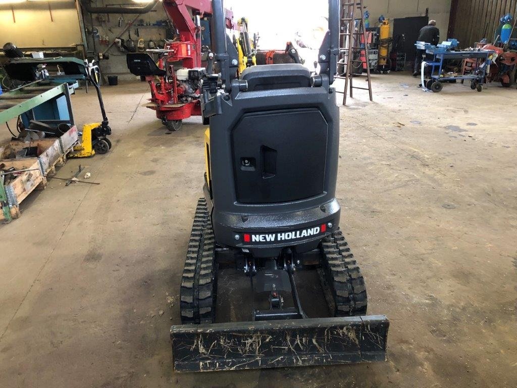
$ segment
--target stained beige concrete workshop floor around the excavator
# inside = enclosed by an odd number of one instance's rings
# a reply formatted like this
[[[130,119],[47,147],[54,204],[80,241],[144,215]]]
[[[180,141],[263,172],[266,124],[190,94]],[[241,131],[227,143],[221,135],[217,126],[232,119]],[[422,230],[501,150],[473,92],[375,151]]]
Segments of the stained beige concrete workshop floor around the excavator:
[[[341,108],[341,228],[391,320],[386,363],[172,371],[204,128],[166,135],[146,84],[122,83],[104,88],[113,150],[57,175],[101,185],[51,180],[0,227],[0,386],[517,386],[517,92],[417,83],[375,76],[375,102]],[[99,117],[92,94],[73,106]]]

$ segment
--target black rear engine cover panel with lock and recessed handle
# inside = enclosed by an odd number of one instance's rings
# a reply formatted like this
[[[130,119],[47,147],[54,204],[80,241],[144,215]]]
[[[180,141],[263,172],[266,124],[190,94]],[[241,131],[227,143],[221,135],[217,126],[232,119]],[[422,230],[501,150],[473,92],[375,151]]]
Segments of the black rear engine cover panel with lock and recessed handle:
[[[328,124],[316,108],[247,113],[232,131],[241,203],[278,203],[324,190]]]

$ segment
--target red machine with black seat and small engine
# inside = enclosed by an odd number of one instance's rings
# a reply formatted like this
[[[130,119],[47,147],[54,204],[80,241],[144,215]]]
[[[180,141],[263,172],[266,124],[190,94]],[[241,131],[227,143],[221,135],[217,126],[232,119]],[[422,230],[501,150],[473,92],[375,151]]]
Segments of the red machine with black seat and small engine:
[[[163,7],[178,37],[166,41],[163,49],[147,50],[158,54],[157,62],[146,53],[131,53],[127,65],[149,83],[146,106],[169,130],[177,131],[185,118],[201,115],[200,80],[206,71],[202,53],[209,51],[212,8],[210,0],[163,0]],[[233,12],[225,10],[225,17],[226,27],[234,28]]]

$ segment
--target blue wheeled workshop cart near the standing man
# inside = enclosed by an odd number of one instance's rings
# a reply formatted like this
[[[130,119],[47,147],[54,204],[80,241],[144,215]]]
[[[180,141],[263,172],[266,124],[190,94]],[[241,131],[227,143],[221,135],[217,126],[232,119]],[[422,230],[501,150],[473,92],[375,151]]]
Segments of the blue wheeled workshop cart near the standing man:
[[[470,88],[481,92],[483,84],[485,83],[485,76],[488,67],[490,66],[491,56],[494,53],[490,50],[472,49],[472,50],[453,50],[458,47],[456,39],[449,39],[437,46],[425,42],[417,42],[415,44],[417,49],[425,50],[428,54],[433,55],[431,61],[426,61],[427,66],[431,68],[428,76],[424,77],[422,88],[430,90],[434,93],[442,91],[444,83],[456,83],[461,80],[462,83],[467,80],[470,81]],[[474,72],[469,74],[461,74],[452,76],[443,74],[443,68],[447,59],[475,59],[476,66]]]

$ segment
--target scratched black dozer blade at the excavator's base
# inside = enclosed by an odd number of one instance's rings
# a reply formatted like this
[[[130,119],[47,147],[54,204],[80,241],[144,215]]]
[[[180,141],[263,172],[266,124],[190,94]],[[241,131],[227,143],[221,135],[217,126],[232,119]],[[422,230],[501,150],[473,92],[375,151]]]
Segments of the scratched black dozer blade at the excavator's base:
[[[171,327],[177,372],[386,361],[386,316]]]

